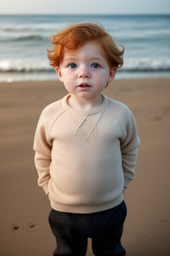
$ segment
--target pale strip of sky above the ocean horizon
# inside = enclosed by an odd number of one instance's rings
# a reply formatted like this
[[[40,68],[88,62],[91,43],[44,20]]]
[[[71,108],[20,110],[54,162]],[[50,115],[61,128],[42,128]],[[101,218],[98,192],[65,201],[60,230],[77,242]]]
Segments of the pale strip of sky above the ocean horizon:
[[[170,0],[1,0],[0,14],[169,14]]]

